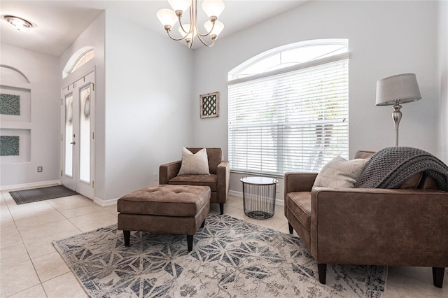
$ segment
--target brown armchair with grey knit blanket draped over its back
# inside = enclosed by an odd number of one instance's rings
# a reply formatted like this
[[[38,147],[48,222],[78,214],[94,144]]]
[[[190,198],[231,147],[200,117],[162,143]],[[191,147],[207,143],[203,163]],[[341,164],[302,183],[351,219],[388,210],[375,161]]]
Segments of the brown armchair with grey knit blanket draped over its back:
[[[358,151],[354,158],[374,152]],[[312,189],[317,173],[285,174],[285,216],[318,264],[433,267],[442,288],[448,267],[448,192],[420,173],[400,189]]]

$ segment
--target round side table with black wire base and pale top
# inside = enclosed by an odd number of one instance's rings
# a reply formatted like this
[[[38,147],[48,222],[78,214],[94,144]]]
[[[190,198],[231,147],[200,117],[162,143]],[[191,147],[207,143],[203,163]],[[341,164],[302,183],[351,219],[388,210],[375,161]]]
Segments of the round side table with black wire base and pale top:
[[[267,177],[243,177],[244,213],[249,218],[272,218],[275,211],[275,187],[279,180]]]

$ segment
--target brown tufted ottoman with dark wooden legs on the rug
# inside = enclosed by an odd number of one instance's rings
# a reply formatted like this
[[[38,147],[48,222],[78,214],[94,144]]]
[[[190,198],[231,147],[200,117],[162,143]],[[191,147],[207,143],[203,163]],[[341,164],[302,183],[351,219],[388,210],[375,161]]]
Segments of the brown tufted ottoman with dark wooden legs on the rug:
[[[188,251],[193,235],[204,227],[210,211],[210,187],[193,185],[153,185],[120,197],[117,202],[118,229],[125,246],[131,231],[187,235]]]

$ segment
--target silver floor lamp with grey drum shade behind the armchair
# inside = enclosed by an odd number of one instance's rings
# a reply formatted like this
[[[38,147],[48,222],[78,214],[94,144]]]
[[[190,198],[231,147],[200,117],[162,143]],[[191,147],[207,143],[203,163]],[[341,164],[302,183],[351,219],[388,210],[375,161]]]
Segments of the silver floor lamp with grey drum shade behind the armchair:
[[[419,99],[421,99],[421,95],[415,73],[402,73],[377,81],[377,106],[393,106],[395,146],[398,146],[398,125],[402,116],[401,104]]]

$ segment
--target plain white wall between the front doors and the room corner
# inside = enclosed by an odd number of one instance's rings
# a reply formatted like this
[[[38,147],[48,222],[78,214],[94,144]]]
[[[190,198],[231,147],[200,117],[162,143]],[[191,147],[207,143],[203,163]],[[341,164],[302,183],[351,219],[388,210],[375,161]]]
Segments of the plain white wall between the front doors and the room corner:
[[[105,196],[151,184],[193,139],[193,53],[106,11]]]

